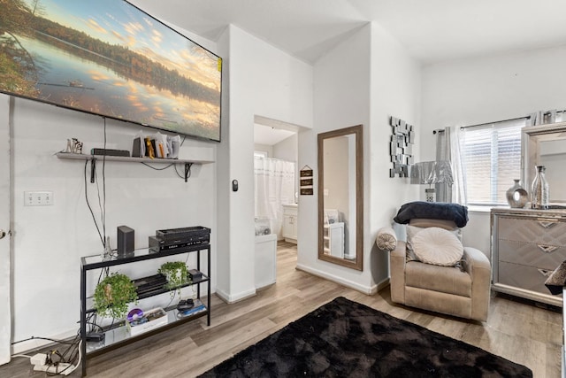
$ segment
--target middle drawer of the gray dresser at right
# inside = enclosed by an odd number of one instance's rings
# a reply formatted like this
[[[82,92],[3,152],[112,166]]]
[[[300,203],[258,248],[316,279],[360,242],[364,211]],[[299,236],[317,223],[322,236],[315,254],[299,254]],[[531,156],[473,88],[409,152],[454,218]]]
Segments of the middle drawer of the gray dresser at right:
[[[498,241],[499,261],[555,270],[566,260],[566,248],[558,245]]]

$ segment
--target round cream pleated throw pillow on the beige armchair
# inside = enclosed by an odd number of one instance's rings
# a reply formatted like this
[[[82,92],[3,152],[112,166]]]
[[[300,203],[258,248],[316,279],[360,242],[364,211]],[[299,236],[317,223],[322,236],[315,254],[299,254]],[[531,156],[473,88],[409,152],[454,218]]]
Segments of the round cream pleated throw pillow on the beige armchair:
[[[427,264],[455,266],[463,257],[462,242],[443,228],[423,228],[411,243],[417,258]]]

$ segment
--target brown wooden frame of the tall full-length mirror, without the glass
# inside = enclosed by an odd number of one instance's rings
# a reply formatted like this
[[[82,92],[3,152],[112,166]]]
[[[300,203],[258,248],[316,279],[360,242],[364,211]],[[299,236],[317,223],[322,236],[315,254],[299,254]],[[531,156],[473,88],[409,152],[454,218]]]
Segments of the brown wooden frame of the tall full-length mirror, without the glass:
[[[356,135],[356,259],[347,260],[328,256],[324,253],[324,191],[325,139],[336,136]],[[363,125],[340,128],[338,130],[320,133],[318,136],[318,259],[332,262],[340,266],[363,271]],[[351,231],[350,231],[351,232]]]

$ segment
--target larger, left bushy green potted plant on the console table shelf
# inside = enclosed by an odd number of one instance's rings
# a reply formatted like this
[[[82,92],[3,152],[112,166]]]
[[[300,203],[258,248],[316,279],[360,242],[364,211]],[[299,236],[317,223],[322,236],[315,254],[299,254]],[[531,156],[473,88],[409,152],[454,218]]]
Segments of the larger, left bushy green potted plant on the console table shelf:
[[[128,305],[137,302],[138,294],[134,282],[126,274],[113,273],[96,285],[93,299],[98,314],[122,319]]]

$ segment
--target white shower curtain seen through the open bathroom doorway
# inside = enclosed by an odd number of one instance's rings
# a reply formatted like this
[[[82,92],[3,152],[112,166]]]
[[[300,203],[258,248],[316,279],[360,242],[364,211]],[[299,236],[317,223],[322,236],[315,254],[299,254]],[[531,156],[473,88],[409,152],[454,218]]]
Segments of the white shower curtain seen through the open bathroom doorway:
[[[256,219],[269,220],[272,234],[281,235],[282,204],[294,204],[294,163],[278,158],[254,158]]]

